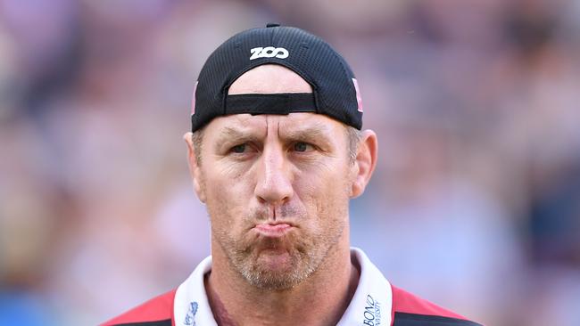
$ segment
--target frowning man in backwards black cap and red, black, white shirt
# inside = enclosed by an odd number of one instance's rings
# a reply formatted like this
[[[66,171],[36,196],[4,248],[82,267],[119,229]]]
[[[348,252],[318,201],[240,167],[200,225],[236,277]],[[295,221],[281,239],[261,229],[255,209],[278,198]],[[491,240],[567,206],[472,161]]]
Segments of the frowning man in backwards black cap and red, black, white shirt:
[[[105,325],[476,325],[395,288],[349,242],[349,200],[377,135],[351,69],[302,29],[228,39],[195,85],[185,134],[211,257]],[[195,240],[194,240],[195,241]]]

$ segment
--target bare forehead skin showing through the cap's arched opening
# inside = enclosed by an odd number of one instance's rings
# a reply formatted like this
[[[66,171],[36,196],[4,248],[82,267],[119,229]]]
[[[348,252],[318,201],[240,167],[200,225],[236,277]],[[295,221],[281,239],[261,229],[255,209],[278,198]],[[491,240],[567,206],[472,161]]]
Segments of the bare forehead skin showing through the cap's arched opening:
[[[229,95],[281,93],[312,93],[312,87],[291,69],[264,64],[244,72],[228,90]]]

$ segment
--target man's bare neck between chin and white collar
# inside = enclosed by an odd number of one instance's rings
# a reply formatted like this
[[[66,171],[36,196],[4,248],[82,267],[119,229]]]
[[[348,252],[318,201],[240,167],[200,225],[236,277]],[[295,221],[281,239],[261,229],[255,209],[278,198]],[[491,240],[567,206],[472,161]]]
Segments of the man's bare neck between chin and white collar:
[[[213,248],[219,248],[213,247]],[[211,310],[219,325],[334,325],[340,321],[358,285],[348,241],[328,252],[319,269],[292,289],[251,285],[233,271],[222,253],[213,253],[205,278]]]

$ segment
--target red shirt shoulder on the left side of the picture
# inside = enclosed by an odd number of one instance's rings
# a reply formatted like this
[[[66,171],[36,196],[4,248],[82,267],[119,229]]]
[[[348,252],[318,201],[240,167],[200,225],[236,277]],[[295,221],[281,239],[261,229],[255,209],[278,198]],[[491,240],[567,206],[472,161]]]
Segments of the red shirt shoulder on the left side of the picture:
[[[173,300],[177,289],[172,289],[144,304],[136,306],[101,326],[172,326]]]

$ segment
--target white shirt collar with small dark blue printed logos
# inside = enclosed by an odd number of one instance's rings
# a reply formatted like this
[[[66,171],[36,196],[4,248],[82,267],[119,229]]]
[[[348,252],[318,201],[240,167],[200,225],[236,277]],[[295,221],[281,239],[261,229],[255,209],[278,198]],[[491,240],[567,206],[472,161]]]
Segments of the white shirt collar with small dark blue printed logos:
[[[360,265],[359,285],[337,326],[391,325],[393,293],[391,284],[357,248],[351,249],[352,258]],[[211,271],[211,256],[195,267],[179,285],[175,294],[173,315],[176,326],[217,326],[203,285],[203,275]]]

